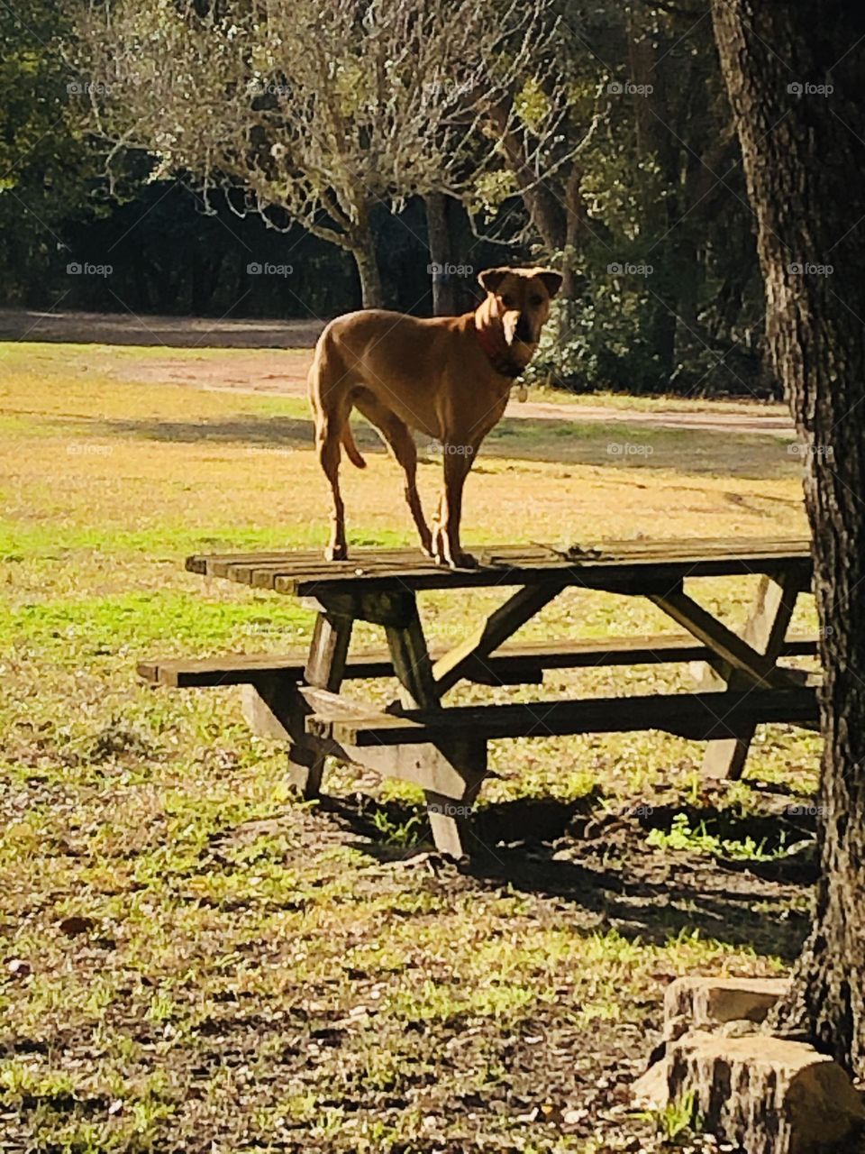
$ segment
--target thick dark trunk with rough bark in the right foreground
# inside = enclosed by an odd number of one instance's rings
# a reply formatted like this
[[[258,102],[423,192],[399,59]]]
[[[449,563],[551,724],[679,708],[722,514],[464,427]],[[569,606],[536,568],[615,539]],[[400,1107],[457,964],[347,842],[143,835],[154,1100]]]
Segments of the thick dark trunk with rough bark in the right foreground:
[[[825,674],[821,879],[795,994],[775,1025],[804,1028],[863,1074],[865,9],[713,0],[713,17],[757,217],[769,350],[805,449]]]

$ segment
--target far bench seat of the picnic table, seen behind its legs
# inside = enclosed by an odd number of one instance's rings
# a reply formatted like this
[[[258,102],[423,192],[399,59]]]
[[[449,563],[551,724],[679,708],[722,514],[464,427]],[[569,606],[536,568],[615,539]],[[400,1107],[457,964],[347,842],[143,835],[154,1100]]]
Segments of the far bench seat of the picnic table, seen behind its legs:
[[[430,649],[434,661],[446,652],[441,645]],[[778,657],[813,657],[815,653],[817,636],[803,635],[785,638],[781,643]],[[544,669],[706,661],[710,655],[707,646],[694,642],[686,634],[516,642],[495,650],[483,660],[469,661],[462,677],[483,685],[539,684]],[[300,650],[284,655],[236,653],[208,658],[152,658],[140,661],[137,672],[144,681],[171,689],[219,688],[257,684],[262,679],[270,677],[300,681],[306,661],[307,654]],[[375,650],[346,659],[345,681],[391,676],[393,661],[388,650]]]

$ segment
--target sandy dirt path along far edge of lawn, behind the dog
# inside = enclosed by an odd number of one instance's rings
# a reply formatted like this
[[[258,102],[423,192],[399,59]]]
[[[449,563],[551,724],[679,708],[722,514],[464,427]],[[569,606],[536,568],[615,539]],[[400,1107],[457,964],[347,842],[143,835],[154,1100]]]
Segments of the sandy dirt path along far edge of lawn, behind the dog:
[[[44,340],[70,344],[163,346],[165,357],[148,353],[104,366],[127,381],[180,384],[195,389],[304,396],[309,350],[322,330],[316,320],[209,320],[98,313],[38,313],[0,309],[0,340]],[[181,355],[172,355],[182,349]],[[196,355],[193,350],[201,350]],[[213,350],[225,350],[213,355]],[[101,360],[104,354],[96,354]],[[669,407],[668,407],[669,405]],[[729,410],[699,404],[677,406],[659,402],[641,410],[581,400],[516,399],[507,415],[535,421],[626,424],[647,428],[700,429],[734,434],[791,437],[790,418],[781,405],[739,403]]]

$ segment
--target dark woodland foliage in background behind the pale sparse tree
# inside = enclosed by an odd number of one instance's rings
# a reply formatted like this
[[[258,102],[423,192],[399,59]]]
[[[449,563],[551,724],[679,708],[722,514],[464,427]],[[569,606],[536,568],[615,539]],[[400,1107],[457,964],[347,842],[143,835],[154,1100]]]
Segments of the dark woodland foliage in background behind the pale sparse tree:
[[[13,170],[0,185],[1,304],[271,316],[330,316],[358,307],[359,269],[367,258],[358,264],[356,252],[331,243],[325,217],[313,213],[280,233],[261,217],[240,219],[220,197],[205,210],[182,165],[172,180],[156,179],[160,160],[146,153],[130,162],[118,198],[106,197],[84,140],[92,102],[66,90],[88,78],[70,75],[54,47],[53,38],[63,32],[54,8],[40,0],[27,27],[8,9],[0,14],[12,46],[0,69],[6,97],[0,158]],[[366,264],[367,298],[371,283],[388,307],[429,313],[430,261],[447,260],[459,271],[444,275],[451,291],[446,298],[439,293],[438,304],[446,299],[459,310],[476,299],[479,269],[555,262],[565,284],[534,380],[577,391],[773,395],[775,383],[761,358],[764,302],[752,217],[701,12],[558,0],[555,40],[524,50],[512,83],[488,90],[482,130],[479,121],[469,140],[461,126],[465,149],[460,163],[442,174],[450,195],[444,210],[437,202],[435,230],[429,222],[435,148],[409,155],[418,133],[397,132],[408,111],[412,117],[418,111],[412,100],[404,97],[403,111],[399,102],[389,105],[401,148],[388,152],[386,164],[375,150],[364,159],[366,113],[343,144],[330,133],[331,177],[319,174],[316,196],[328,202],[336,187],[349,194],[352,181],[337,180],[336,170],[363,160],[356,187],[369,195],[363,204],[348,205],[348,215],[362,225],[361,247],[369,241],[375,254],[377,273]],[[359,59],[368,57],[368,39],[359,37]],[[441,59],[430,54],[432,80],[427,77],[426,88],[415,83],[413,91],[418,107],[444,100],[451,115],[460,100],[474,100],[474,89],[467,73],[454,70],[446,47]],[[556,74],[547,81],[550,55]],[[272,132],[273,118],[285,112],[280,102],[289,99],[280,88],[286,76],[272,68],[261,70],[262,77],[277,90],[249,107]],[[396,91],[394,83],[379,85],[382,99]],[[216,138],[224,120],[219,93],[210,92],[216,113],[205,113],[201,85],[190,82],[186,96],[182,85],[179,90],[191,118],[188,138]],[[143,91],[150,99],[152,84]],[[329,91],[325,85],[323,95]],[[354,103],[346,103],[345,84],[332,90],[347,123],[363,96],[351,91]],[[559,113],[551,120],[554,105]],[[436,132],[446,119],[438,118]],[[550,133],[552,122],[557,130]],[[205,123],[210,130],[195,136],[193,129]],[[412,123],[416,129],[416,117]],[[176,152],[176,141],[172,148]],[[286,163],[283,175],[291,182]],[[376,166],[388,171],[375,175]],[[271,183],[279,175],[265,174]],[[113,276],[69,278],[69,258],[111,263]],[[292,271],[249,276],[248,265],[266,262]]]

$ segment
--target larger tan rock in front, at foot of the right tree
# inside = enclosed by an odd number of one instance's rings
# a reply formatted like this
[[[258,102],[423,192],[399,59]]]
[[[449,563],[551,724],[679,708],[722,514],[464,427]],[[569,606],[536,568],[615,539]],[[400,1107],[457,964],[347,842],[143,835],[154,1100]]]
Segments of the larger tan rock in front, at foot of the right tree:
[[[862,1099],[836,1062],[767,1034],[685,1034],[668,1043],[633,1093],[655,1109],[693,1094],[704,1130],[749,1154],[818,1154],[865,1122]]]

